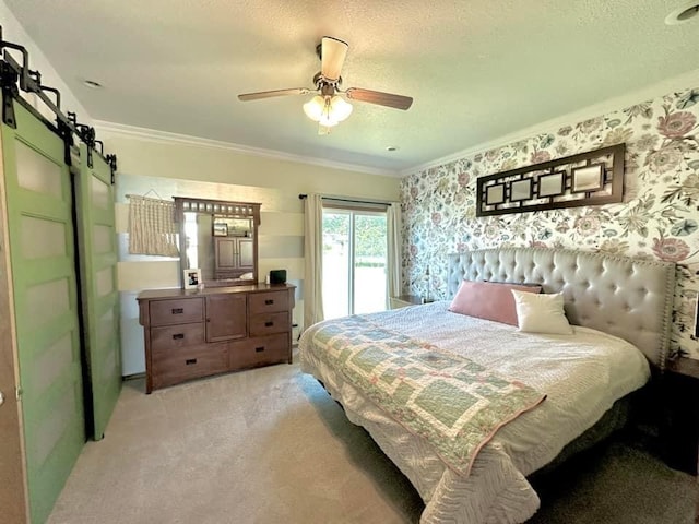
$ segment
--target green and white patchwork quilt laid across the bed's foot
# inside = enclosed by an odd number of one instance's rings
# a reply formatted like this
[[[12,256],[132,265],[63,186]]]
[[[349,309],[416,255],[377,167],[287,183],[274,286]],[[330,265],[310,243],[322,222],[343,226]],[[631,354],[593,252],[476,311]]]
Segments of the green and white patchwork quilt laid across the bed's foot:
[[[312,343],[317,358],[426,439],[464,476],[499,428],[546,397],[469,358],[364,317],[319,326]]]

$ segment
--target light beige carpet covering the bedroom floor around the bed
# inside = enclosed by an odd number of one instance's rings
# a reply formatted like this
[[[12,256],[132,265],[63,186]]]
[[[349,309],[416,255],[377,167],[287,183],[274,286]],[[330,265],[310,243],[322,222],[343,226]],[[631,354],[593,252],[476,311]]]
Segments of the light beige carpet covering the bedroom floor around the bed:
[[[623,442],[584,461],[565,488],[550,479],[558,488],[545,489],[535,522],[694,522],[689,475]],[[151,395],[142,380],[125,382],[105,439],[86,444],[49,524],[391,524],[422,510],[368,434],[284,364]]]

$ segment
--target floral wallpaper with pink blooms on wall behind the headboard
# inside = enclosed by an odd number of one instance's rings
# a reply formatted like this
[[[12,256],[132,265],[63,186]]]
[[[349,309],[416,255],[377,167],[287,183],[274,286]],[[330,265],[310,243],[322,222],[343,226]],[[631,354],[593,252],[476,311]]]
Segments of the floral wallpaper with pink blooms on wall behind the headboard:
[[[677,264],[671,352],[699,359],[699,88],[672,93],[405,177],[405,290],[447,297],[447,257],[541,246]],[[476,178],[626,142],[624,202],[476,217]]]

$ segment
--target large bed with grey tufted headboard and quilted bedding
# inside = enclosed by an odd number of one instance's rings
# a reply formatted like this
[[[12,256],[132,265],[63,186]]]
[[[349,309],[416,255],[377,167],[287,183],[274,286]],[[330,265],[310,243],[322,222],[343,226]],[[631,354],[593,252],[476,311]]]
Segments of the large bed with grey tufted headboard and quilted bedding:
[[[618,429],[625,400],[664,367],[674,278],[671,263],[603,253],[451,254],[450,300],[315,324],[299,342],[301,369],[410,479],[425,502],[420,523],[524,522],[540,505],[526,477]],[[464,279],[561,293],[573,333],[449,311]],[[416,374],[429,376],[424,390],[406,393]],[[460,382],[436,385],[443,377]],[[473,407],[485,404],[498,415]]]

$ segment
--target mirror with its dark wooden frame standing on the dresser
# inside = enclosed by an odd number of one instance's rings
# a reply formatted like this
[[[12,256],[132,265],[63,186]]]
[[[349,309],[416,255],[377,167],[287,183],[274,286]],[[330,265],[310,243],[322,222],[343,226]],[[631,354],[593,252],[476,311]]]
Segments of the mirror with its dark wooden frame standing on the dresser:
[[[174,200],[182,270],[199,269],[206,286],[256,284],[261,204]]]

